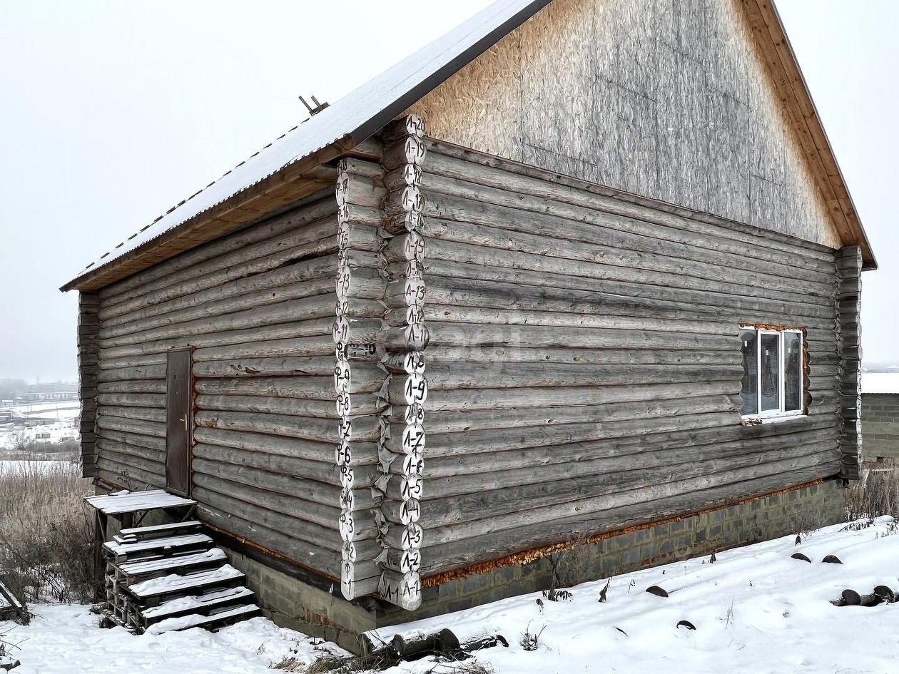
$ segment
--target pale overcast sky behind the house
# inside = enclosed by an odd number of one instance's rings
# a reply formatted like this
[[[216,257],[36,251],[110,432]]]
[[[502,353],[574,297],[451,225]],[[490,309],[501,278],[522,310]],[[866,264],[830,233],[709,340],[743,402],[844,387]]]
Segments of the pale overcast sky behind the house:
[[[304,119],[298,95],[334,102],[487,4],[0,0],[0,378],[75,379],[60,285]],[[899,3],[777,4],[882,269],[865,358],[899,361]]]

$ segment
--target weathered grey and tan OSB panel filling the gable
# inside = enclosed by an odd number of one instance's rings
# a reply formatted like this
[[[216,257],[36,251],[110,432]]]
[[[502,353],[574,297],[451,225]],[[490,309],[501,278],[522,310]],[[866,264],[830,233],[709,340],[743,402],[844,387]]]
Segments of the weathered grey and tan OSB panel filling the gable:
[[[412,110],[432,137],[841,245],[738,0],[554,0]]]

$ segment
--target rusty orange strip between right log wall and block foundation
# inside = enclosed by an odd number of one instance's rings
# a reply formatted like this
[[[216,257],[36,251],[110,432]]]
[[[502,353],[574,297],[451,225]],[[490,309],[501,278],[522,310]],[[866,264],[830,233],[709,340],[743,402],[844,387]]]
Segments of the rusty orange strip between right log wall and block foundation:
[[[792,487],[787,487],[785,489],[779,489],[774,492],[765,492],[759,494],[758,496],[751,496],[745,499],[740,499],[738,501],[725,501],[723,504],[715,506],[714,508],[705,508],[703,510],[695,510],[693,512],[687,513],[686,515],[679,515],[677,517],[665,518],[665,519],[656,519],[652,522],[645,522],[644,524],[636,524],[632,527],[615,529],[613,531],[606,531],[598,534],[593,534],[592,536],[586,537],[583,540],[574,540],[574,541],[563,541],[561,543],[554,543],[552,545],[544,545],[542,547],[531,548],[530,550],[524,550],[520,553],[507,554],[504,557],[499,557],[498,559],[490,560],[489,562],[481,562],[472,564],[470,566],[466,566],[462,569],[453,569],[451,571],[438,573],[433,576],[427,576],[422,581],[423,588],[432,588],[437,585],[441,585],[442,583],[455,581],[459,578],[465,578],[467,576],[476,575],[477,573],[486,573],[491,572],[494,569],[498,569],[502,566],[512,566],[513,564],[527,564],[533,562],[535,560],[540,559],[541,557],[546,557],[549,554],[561,553],[566,550],[572,550],[579,545],[590,545],[593,543],[599,543],[606,538],[612,538],[616,536],[623,536],[625,534],[630,534],[635,531],[639,531],[640,529],[657,527],[663,524],[669,524],[671,522],[680,522],[681,519],[688,519],[691,517],[699,517],[699,515],[705,515],[709,512],[715,512],[716,510],[724,510],[725,508],[733,508],[734,506],[742,505],[743,503],[751,503],[752,501],[758,501],[759,499],[766,499],[770,496],[777,496],[782,493],[793,492],[799,489],[806,489],[808,487],[812,487],[815,484],[823,483],[823,479],[811,480],[809,482],[800,483],[794,485]],[[742,545],[742,544],[741,544]]]

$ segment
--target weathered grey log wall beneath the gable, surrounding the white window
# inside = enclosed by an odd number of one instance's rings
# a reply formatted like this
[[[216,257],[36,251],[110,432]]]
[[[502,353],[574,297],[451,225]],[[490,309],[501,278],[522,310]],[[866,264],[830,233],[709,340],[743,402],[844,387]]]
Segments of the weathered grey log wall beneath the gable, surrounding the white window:
[[[427,149],[424,576],[840,473],[832,249]],[[740,324],[806,328],[807,416],[741,424]]]

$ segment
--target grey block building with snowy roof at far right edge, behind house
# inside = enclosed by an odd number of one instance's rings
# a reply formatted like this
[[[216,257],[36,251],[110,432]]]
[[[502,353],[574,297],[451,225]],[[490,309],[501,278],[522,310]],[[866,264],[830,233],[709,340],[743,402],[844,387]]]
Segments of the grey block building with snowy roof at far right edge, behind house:
[[[861,376],[861,435],[866,466],[899,461],[899,372]]]

